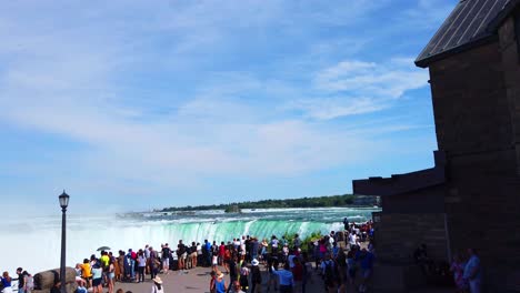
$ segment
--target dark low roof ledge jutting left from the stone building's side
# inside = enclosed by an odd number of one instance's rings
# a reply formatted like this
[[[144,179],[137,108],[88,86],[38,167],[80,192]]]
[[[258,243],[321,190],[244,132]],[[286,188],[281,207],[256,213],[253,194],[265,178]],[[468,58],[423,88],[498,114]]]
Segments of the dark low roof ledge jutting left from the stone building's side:
[[[391,178],[353,180],[353,193],[389,196],[441,185],[446,182],[446,155],[443,152],[436,151],[434,159],[436,166],[431,169],[392,175]]]

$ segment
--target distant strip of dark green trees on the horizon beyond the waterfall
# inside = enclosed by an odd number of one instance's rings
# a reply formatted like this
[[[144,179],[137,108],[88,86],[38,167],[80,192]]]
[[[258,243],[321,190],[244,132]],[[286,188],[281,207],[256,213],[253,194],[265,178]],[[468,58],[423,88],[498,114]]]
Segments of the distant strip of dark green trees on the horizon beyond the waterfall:
[[[179,208],[164,208],[161,212],[176,212],[176,211],[206,211],[206,210],[226,210],[231,209],[274,209],[274,208],[329,208],[329,206],[346,206],[353,204],[353,194],[319,196],[319,198],[302,198],[302,199],[287,199],[287,200],[262,200],[256,202],[233,202],[226,204],[211,204],[211,205],[187,205]]]

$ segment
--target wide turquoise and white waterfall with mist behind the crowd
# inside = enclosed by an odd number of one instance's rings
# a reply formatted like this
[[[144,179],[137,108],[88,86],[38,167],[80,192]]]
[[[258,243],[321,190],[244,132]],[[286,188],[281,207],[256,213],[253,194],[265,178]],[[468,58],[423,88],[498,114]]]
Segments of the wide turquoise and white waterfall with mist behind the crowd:
[[[312,232],[329,233],[342,229],[344,216],[363,222],[379,209],[266,209],[223,211],[144,212],[113,215],[67,215],[67,265],[73,266],[100,246],[112,252],[141,249],[146,244],[160,249],[162,243],[229,241],[241,235],[259,239],[284,233],[299,233],[302,239]],[[8,220],[2,228],[0,264],[13,273],[22,266],[30,273],[59,267],[61,251],[61,214],[56,216]]]

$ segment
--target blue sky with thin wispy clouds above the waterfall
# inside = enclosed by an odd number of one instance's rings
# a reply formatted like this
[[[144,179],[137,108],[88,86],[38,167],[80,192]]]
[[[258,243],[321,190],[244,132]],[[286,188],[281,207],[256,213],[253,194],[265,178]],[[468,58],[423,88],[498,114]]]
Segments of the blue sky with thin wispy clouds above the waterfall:
[[[433,165],[428,70],[456,0],[8,1],[6,210],[352,192]]]

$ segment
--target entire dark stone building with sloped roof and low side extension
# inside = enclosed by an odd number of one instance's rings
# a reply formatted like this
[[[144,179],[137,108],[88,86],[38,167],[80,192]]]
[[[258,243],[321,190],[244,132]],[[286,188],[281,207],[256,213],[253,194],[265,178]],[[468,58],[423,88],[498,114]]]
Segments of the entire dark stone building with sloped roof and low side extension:
[[[488,292],[520,292],[520,0],[460,1],[416,64],[430,72],[436,166],[353,182],[382,198],[381,261],[410,260],[391,236],[408,228],[406,249],[448,261],[476,247]]]

